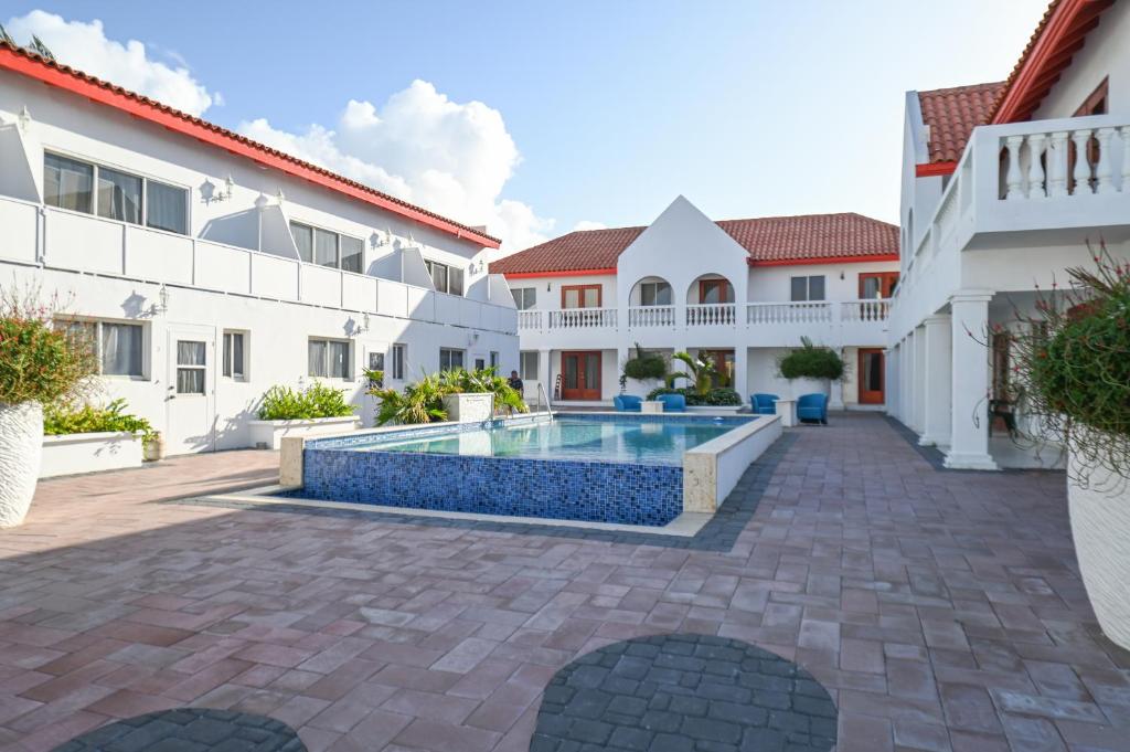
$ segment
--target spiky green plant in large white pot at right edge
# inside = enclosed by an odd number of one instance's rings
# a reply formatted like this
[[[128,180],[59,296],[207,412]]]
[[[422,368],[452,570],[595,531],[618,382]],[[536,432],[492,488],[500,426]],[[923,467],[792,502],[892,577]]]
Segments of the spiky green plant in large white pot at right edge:
[[[1071,537],[1103,632],[1130,649],[1130,262],[1088,244],[1095,269],[1037,296],[1010,327],[1022,440],[1067,451]],[[1001,327],[993,327],[1001,331]]]

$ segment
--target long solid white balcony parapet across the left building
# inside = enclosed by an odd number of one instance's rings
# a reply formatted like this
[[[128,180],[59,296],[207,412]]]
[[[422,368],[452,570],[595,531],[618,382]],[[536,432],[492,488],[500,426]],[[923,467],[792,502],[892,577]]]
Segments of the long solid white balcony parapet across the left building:
[[[513,308],[0,197],[0,262],[512,334]]]

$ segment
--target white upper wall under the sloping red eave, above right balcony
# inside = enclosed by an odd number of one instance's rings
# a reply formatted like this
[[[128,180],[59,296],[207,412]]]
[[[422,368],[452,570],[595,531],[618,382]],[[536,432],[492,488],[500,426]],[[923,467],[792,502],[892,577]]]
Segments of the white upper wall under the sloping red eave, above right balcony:
[[[1130,114],[1130,6],[1115,2],[1099,16],[1087,43],[1071,55],[1071,64],[1032,114],[1032,120],[1070,118],[1110,76],[1110,112]]]

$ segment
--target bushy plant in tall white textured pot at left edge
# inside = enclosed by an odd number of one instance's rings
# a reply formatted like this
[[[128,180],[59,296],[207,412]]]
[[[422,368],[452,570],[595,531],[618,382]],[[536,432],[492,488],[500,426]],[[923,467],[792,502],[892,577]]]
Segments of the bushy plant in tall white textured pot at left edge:
[[[43,405],[72,395],[95,372],[94,348],[54,323],[35,289],[0,296],[0,527],[19,525],[35,494]]]

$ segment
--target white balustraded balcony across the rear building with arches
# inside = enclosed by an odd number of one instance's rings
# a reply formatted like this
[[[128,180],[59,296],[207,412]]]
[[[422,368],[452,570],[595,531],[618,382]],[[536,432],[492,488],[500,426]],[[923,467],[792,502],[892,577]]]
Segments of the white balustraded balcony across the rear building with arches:
[[[527,310],[519,311],[518,328],[523,345],[531,347],[541,340],[549,347],[608,347],[615,342],[601,337],[618,334],[659,346],[671,332],[680,343],[685,336],[716,336],[731,346],[739,336],[751,347],[796,345],[800,337],[829,345],[879,345],[885,343],[889,310],[885,300],[633,305],[623,314],[612,308]]]

